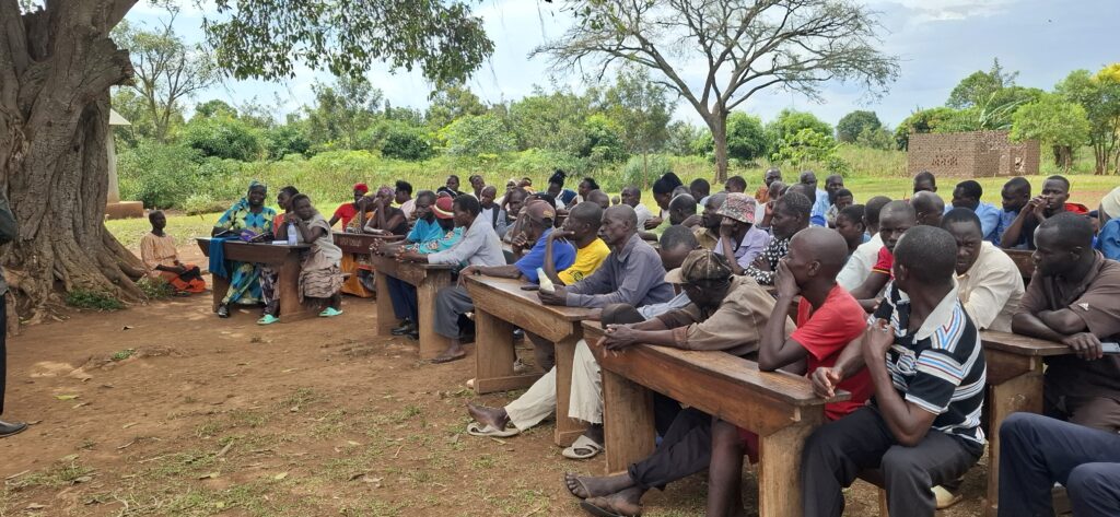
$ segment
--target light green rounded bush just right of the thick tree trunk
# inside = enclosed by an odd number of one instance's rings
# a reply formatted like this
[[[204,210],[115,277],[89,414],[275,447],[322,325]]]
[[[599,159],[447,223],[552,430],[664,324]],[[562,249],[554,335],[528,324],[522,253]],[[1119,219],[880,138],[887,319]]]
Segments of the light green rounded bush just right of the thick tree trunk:
[[[198,151],[142,141],[116,159],[121,196],[148,208],[169,208],[198,190]]]

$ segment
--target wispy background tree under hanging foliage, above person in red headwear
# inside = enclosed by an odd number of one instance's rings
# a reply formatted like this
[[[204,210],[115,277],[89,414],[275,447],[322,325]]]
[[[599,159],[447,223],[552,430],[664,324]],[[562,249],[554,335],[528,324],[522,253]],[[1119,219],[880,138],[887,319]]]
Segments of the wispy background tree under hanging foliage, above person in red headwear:
[[[358,133],[373,124],[381,112],[381,91],[364,77],[338,77],[334,85],[316,82],[315,106],[305,106],[308,129],[315,143],[337,142],[358,149]]]

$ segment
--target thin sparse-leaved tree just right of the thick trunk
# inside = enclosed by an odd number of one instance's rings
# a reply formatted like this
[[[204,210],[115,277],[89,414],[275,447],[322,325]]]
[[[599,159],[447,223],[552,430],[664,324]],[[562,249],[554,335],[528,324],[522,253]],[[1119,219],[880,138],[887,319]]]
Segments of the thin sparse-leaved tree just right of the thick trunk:
[[[178,8],[168,7],[170,18],[156,30],[146,30],[122,21],[113,29],[113,39],[129,50],[134,81],[129,86],[143,100],[151,137],[165,142],[171,124],[183,120],[181,102],[217,81],[209,54],[197,45],[187,45],[172,25]]]

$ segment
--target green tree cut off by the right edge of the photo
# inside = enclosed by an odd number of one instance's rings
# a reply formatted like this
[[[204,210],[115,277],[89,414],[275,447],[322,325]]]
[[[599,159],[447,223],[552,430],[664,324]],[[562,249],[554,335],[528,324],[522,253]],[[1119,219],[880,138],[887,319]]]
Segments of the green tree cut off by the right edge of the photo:
[[[1096,162],[1094,172],[1108,173],[1120,163],[1120,64],[1096,74],[1074,70],[1055,90],[1085,110],[1089,143]]]

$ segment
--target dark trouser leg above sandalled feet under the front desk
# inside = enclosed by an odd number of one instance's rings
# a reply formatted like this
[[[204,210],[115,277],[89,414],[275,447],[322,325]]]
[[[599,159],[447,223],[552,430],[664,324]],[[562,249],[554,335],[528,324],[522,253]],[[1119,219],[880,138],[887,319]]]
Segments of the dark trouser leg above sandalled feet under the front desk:
[[[670,411],[671,404],[676,403],[663,397],[655,402],[654,411],[663,414]],[[711,415],[692,407],[679,410],[675,415],[662,434],[657,450],[627,469],[631,479],[643,490],[664,489],[672,481],[707,471],[711,463]]]

